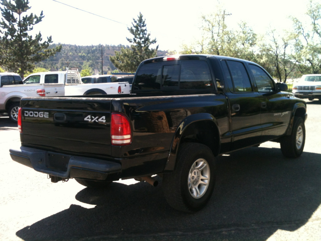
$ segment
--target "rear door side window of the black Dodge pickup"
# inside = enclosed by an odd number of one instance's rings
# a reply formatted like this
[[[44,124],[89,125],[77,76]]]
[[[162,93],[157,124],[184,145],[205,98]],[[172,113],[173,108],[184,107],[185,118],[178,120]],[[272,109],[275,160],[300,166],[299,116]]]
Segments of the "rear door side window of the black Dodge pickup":
[[[234,85],[234,92],[252,92],[250,78],[243,63],[227,60]]]

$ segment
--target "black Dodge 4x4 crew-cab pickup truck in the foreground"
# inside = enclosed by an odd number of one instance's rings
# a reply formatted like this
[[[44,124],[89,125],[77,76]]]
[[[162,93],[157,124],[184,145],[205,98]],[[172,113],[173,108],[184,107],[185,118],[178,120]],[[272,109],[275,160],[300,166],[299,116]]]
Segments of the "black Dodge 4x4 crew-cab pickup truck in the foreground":
[[[172,207],[197,211],[213,192],[216,156],[266,141],[301,155],[306,104],[286,90],[253,62],[156,57],[139,65],[131,94],[23,98],[22,147],[10,154],[52,182],[87,187],[155,185],[159,175]]]

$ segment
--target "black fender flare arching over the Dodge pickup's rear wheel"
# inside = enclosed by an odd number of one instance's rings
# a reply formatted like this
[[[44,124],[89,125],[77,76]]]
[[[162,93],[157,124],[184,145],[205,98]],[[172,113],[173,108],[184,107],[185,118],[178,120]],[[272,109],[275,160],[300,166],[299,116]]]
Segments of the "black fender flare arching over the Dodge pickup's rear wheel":
[[[218,123],[215,119],[215,117],[209,113],[198,113],[198,114],[192,114],[187,116],[180,124],[180,126],[176,129],[171,148],[170,148],[170,153],[169,157],[167,159],[167,163],[164,169],[164,172],[171,172],[174,171],[176,167],[176,159],[177,159],[177,154],[179,150],[179,146],[182,140],[182,137],[184,136],[184,132],[187,130],[187,128],[196,122],[202,122],[202,121],[210,121],[212,122],[217,131],[219,136],[220,135],[220,129],[218,128]],[[221,147],[221,139],[219,139],[219,148]]]

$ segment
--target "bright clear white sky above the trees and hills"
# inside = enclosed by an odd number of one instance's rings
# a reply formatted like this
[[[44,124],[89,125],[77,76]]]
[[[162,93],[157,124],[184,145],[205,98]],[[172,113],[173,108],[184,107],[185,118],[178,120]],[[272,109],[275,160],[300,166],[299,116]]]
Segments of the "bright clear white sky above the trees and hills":
[[[102,16],[104,19],[68,7],[53,0],[29,0],[29,11],[45,18],[36,25],[43,38],[52,36],[54,43],[76,45],[128,45],[132,37],[127,27],[139,12],[146,20],[151,38],[157,39],[160,50],[180,50],[182,43],[191,43],[201,37],[202,14],[215,12],[216,0],[198,1],[133,1],[133,0],[57,0],[72,7]],[[321,0],[319,0],[321,1]],[[299,19],[306,12],[307,0],[224,0],[225,9],[232,14],[230,25],[247,22],[259,34],[266,29],[289,29],[288,16]],[[113,21],[111,21],[113,20]],[[117,22],[120,23],[117,23]]]

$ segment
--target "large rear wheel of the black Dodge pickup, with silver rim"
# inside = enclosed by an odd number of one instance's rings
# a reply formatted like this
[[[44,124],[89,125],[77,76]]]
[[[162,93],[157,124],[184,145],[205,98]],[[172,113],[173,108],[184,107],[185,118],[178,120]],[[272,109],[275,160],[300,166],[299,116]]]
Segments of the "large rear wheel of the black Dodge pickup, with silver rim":
[[[201,165],[202,162],[202,170],[194,168],[195,163]],[[206,178],[202,178],[206,176],[209,177],[207,181]],[[215,179],[215,160],[211,149],[199,143],[185,143],[180,147],[176,170],[163,176],[164,196],[173,208],[184,212],[195,212],[210,200]],[[195,192],[195,188],[199,193]],[[198,194],[199,197],[196,197]]]

